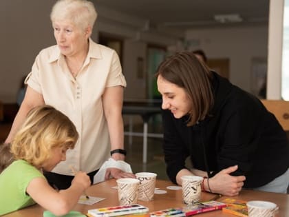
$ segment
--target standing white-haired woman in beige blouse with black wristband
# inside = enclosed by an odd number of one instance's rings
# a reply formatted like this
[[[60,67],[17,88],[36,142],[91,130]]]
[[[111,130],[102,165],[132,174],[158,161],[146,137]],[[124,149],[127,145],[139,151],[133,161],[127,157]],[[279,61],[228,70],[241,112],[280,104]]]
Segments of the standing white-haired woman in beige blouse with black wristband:
[[[36,56],[26,78],[25,98],[6,143],[12,141],[28,112],[38,105],[52,105],[76,125],[78,142],[66,161],[45,176],[58,189],[74,178],[71,165],[93,179],[109,152],[125,159],[122,99],[126,85],[118,55],[90,38],[96,10],[87,0],[59,0],[50,18],[57,45]],[[106,178],[134,177],[120,169],[107,169]]]

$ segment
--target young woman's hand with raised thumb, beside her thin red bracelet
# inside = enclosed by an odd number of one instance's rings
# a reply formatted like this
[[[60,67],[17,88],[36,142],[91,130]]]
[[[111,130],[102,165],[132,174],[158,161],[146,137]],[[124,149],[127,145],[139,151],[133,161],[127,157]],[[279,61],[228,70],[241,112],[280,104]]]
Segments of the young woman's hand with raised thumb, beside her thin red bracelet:
[[[224,196],[237,196],[242,190],[244,181],[246,180],[245,176],[231,176],[232,172],[235,172],[238,169],[238,166],[228,167],[223,169],[219,173],[215,174],[212,178],[208,179],[209,186],[213,193],[222,194]],[[206,190],[208,190],[207,183]]]

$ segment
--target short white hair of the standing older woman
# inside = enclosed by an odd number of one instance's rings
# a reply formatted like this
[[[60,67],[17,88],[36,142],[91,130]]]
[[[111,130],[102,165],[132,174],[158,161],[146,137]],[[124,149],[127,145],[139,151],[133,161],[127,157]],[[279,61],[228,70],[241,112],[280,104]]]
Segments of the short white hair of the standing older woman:
[[[97,13],[94,4],[87,0],[58,0],[54,4],[50,19],[55,21],[69,20],[78,28],[94,27]]]

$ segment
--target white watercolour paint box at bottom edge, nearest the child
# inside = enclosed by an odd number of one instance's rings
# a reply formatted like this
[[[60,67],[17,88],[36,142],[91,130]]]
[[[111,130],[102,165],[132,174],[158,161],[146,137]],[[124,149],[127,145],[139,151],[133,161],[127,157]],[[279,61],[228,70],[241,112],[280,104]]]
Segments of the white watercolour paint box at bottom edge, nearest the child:
[[[87,216],[92,217],[109,217],[109,216],[122,216],[127,214],[142,214],[149,211],[149,208],[142,205],[124,205],[118,207],[104,207],[100,209],[89,209]]]

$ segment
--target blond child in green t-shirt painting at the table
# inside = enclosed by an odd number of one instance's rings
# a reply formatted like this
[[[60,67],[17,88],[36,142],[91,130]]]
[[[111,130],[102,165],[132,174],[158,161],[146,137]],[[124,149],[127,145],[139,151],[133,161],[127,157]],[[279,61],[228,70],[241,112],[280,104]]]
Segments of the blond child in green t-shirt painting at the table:
[[[68,189],[56,192],[42,170],[51,171],[65,161],[77,139],[76,127],[54,107],[30,111],[11,144],[14,162],[0,174],[0,216],[34,203],[56,216],[67,214],[89,187],[89,176],[77,172]]]

